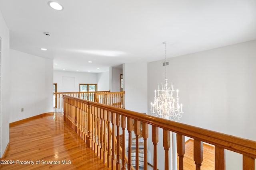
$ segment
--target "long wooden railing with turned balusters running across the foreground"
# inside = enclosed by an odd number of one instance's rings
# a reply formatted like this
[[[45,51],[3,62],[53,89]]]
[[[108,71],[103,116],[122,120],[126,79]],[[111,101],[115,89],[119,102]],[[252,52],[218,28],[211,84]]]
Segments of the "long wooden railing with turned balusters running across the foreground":
[[[131,132],[133,124],[137,151],[140,133],[142,133],[144,139],[145,170],[147,169],[147,142],[150,142],[148,141],[148,125],[152,126],[152,132],[150,133],[154,145],[154,170],[157,169],[159,128],[163,129],[163,146],[165,152],[163,164],[165,165],[165,170],[169,169],[168,150],[170,148],[170,131],[177,134],[179,170],[184,169],[185,136],[194,139],[194,162],[196,164],[196,170],[200,170],[203,161],[202,142],[214,145],[216,170],[225,170],[225,150],[231,150],[243,155],[243,170],[255,169],[255,141],[70,96],[64,96],[64,120],[84,139],[88,147],[95,150],[100,159],[104,163],[107,163],[108,167],[112,166],[112,169],[122,168],[124,170],[127,167],[130,170],[132,168],[131,152],[129,150],[131,150],[132,145]],[[140,127],[141,124],[142,128]],[[128,131],[128,162],[125,160],[124,152],[120,154],[120,131],[122,134]],[[117,144],[113,142],[115,140]],[[125,150],[124,138],[122,139],[122,150]],[[136,170],[138,170],[138,154],[136,154]]]

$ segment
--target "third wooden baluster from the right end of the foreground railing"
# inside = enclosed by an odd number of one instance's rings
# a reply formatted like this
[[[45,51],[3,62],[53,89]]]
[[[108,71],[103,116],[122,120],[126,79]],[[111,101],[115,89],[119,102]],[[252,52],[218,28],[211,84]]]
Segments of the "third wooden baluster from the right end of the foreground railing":
[[[194,139],[194,161],[196,170],[200,170],[203,162],[203,143],[197,139]]]

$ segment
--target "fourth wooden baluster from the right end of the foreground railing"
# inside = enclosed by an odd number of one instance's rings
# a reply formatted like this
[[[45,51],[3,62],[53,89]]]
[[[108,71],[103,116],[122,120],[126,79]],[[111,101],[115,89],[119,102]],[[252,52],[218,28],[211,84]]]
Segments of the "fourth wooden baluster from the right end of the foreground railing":
[[[183,158],[185,154],[185,136],[177,133],[177,152],[179,156],[179,170],[183,170]]]

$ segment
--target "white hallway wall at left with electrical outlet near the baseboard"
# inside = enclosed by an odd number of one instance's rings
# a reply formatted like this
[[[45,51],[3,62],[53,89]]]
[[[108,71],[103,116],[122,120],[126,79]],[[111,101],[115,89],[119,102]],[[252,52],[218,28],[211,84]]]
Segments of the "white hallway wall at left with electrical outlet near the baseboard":
[[[52,60],[10,49],[10,122],[53,111],[52,72]]]

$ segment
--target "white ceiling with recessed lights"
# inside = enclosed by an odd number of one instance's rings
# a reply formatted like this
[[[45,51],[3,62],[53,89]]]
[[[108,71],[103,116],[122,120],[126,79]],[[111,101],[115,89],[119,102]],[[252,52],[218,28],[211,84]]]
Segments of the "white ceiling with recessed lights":
[[[0,11],[10,48],[53,59],[54,70],[161,60],[163,41],[175,57],[256,39],[256,0],[56,0],[61,11],[48,1],[0,0]]]

